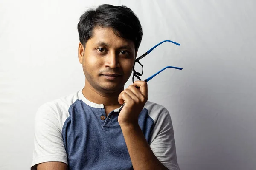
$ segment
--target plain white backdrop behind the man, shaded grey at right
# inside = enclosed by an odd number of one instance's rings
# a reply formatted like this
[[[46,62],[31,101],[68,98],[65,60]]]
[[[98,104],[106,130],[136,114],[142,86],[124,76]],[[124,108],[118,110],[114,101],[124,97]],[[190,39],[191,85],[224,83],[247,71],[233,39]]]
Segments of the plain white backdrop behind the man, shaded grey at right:
[[[102,3],[140,19],[152,102],[170,112],[181,170],[256,169],[256,1],[1,0],[0,169],[28,170],[40,105],[79,91],[79,17]],[[131,84],[128,80],[125,87]]]

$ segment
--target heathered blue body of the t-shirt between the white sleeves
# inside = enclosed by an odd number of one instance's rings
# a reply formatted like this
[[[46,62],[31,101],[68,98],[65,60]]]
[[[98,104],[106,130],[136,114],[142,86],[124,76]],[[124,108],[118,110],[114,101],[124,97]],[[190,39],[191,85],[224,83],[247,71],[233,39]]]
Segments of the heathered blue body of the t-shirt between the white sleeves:
[[[79,99],[70,106],[62,129],[69,170],[133,169],[118,115],[112,111],[106,117],[104,108],[93,108]],[[149,142],[154,121],[146,108],[139,115],[139,125]]]

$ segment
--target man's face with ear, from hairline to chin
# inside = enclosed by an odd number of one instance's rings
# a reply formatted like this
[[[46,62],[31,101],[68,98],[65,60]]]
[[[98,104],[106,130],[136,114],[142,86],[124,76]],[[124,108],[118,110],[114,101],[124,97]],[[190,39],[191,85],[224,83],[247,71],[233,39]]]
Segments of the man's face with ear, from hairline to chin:
[[[122,90],[136,55],[134,42],[116,36],[112,28],[96,27],[85,48],[79,44],[79,62],[86,81],[97,91]]]

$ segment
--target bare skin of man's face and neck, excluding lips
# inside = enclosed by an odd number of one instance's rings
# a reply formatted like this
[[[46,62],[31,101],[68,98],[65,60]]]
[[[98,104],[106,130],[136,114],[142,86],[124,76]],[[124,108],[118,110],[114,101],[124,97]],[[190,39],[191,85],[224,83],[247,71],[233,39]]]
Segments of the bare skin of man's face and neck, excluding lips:
[[[85,75],[84,96],[102,103],[108,113],[119,108],[118,96],[129,79],[137,55],[134,43],[116,36],[112,28],[94,28],[93,37],[85,45],[79,43],[79,62]],[[102,74],[120,74],[108,80]]]

